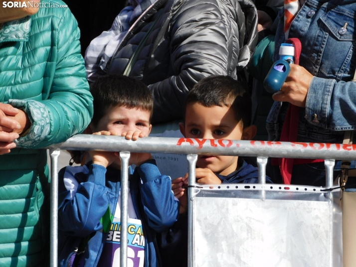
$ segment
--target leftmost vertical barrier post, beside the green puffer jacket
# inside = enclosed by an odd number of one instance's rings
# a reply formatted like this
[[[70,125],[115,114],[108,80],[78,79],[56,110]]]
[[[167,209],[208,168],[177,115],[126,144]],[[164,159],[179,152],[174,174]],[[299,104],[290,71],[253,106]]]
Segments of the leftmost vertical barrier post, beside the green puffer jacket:
[[[49,150],[51,158],[50,267],[58,264],[58,157],[60,149]]]

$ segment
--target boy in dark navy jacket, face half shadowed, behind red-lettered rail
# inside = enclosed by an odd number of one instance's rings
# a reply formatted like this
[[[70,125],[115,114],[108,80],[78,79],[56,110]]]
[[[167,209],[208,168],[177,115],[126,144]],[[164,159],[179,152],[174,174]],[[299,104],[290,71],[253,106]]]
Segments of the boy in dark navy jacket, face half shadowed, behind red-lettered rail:
[[[179,127],[184,137],[201,139],[251,140],[257,131],[251,125],[251,98],[246,87],[228,76],[210,76],[193,87],[185,102],[184,124]],[[196,167],[199,184],[258,183],[257,167],[238,156],[198,155]],[[172,181],[181,213],[187,206],[187,178],[188,174]],[[266,181],[271,182],[269,177]],[[162,234],[164,266],[186,266],[185,259],[179,262],[181,256],[176,256],[187,251],[186,220],[181,216],[170,231]]]

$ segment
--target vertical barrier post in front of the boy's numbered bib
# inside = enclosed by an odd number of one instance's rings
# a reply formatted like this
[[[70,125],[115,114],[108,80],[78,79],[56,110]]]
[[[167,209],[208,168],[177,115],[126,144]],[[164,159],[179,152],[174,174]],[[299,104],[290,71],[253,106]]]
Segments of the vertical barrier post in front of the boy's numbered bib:
[[[127,267],[127,215],[129,197],[129,159],[130,152],[120,152],[121,182],[120,182],[120,267]]]

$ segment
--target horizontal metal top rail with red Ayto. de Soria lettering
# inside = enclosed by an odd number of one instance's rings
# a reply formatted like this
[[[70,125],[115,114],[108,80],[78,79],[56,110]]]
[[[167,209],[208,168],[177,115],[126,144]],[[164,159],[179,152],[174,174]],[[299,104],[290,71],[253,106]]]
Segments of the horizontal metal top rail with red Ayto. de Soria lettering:
[[[47,148],[176,154],[212,153],[214,155],[255,157],[334,158],[338,160],[356,159],[355,144],[210,140],[170,137],[145,137],[132,141],[126,140],[122,136],[89,134],[78,134],[61,144],[52,145]]]

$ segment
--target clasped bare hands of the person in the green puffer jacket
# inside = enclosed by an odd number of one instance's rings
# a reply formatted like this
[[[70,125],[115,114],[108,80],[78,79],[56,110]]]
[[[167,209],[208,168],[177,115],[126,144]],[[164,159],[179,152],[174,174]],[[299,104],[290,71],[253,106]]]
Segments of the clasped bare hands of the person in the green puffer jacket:
[[[16,144],[13,140],[19,137],[14,130],[21,128],[20,124],[13,118],[19,113],[18,109],[11,105],[0,103],[0,155],[10,152]]]

